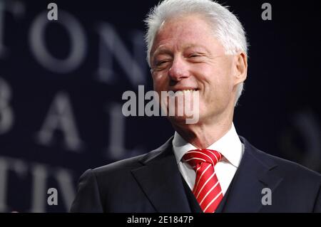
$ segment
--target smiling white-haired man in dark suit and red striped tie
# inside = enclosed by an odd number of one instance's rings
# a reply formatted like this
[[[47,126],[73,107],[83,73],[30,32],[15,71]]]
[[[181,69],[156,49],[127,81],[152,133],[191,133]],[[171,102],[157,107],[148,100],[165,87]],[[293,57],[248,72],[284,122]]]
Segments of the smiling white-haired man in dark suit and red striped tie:
[[[321,212],[320,174],[261,152],[235,131],[248,69],[238,19],[210,0],[165,0],[146,22],[154,90],[198,93],[191,100],[198,122],[168,117],[175,134],[163,146],[87,170],[71,211]]]

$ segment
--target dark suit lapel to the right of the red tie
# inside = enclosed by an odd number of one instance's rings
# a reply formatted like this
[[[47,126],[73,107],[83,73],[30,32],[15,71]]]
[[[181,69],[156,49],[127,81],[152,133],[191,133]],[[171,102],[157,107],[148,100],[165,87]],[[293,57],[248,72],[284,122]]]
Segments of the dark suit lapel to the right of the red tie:
[[[258,212],[264,208],[262,198],[265,194],[262,194],[262,189],[269,188],[273,192],[282,178],[273,171],[277,169],[277,165],[272,159],[264,158],[246,139],[240,139],[245,145],[245,152],[235,173],[223,212]]]

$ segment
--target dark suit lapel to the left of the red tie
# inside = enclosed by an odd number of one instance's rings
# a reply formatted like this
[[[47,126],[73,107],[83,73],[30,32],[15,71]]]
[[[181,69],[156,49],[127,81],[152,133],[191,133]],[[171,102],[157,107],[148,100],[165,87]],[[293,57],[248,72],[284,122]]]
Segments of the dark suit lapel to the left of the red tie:
[[[183,182],[169,139],[141,159],[143,167],[132,173],[158,212],[190,212]]]

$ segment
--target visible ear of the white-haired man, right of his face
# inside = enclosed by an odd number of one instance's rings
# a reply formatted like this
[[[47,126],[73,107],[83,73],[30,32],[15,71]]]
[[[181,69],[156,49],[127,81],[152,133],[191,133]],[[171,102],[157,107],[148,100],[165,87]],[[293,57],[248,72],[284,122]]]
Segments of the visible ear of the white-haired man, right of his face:
[[[248,57],[244,52],[235,55],[234,68],[235,85],[238,85],[242,83],[248,75]]]

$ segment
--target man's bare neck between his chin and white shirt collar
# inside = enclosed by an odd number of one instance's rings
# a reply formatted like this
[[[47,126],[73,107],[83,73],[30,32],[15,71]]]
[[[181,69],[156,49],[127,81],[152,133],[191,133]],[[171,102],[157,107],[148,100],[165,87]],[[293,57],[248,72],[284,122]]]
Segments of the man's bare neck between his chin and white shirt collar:
[[[205,149],[222,138],[232,127],[232,122],[233,112],[220,120],[216,118],[216,120],[212,119],[193,125],[172,122],[172,125],[187,142],[199,149]]]

